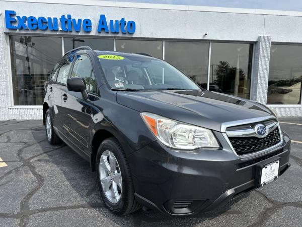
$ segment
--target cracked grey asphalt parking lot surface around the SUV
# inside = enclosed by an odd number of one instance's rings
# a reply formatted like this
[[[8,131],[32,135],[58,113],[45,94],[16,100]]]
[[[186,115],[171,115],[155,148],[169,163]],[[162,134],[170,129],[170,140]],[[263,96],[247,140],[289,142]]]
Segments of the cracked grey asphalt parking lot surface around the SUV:
[[[302,118],[280,122],[293,141],[285,174],[215,211],[182,217],[156,210],[112,214],[89,163],[66,145],[49,145],[42,121],[0,122],[0,225],[301,226]]]

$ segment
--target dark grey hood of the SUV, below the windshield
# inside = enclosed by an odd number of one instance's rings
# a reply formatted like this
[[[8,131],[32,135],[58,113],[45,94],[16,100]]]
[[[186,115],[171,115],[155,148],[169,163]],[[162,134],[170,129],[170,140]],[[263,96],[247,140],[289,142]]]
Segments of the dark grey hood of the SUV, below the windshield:
[[[220,131],[221,124],[274,117],[262,104],[212,91],[118,91],[117,102],[139,112]]]

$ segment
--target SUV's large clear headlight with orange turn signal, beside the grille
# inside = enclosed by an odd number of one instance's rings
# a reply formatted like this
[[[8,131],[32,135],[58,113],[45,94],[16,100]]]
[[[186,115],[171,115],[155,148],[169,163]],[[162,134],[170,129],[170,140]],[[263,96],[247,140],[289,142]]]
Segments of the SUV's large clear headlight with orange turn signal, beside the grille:
[[[140,116],[156,138],[168,147],[184,150],[219,147],[209,129],[187,125],[154,113],[142,112]]]

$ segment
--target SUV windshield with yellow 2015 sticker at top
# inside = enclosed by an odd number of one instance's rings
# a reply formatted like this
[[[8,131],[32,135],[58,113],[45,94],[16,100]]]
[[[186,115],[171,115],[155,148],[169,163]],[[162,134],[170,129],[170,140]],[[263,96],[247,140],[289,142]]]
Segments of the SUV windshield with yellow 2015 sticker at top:
[[[98,58],[112,89],[201,90],[179,70],[159,59],[122,53],[102,53]]]

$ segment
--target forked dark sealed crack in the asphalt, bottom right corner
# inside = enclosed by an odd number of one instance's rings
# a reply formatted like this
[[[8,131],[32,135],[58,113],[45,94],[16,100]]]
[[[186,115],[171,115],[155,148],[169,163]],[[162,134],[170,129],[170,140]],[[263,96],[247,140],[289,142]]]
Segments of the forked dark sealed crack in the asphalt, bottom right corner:
[[[268,198],[264,193],[255,190],[256,193],[261,195],[266,201],[268,201],[272,206],[265,208],[261,213],[258,214],[257,221],[253,224],[249,225],[249,227],[252,226],[260,226],[265,223],[266,220],[268,220],[269,217],[271,217],[278,209],[283,207],[299,207],[302,208],[302,201],[296,201],[296,202],[279,202],[277,200],[273,200]]]

